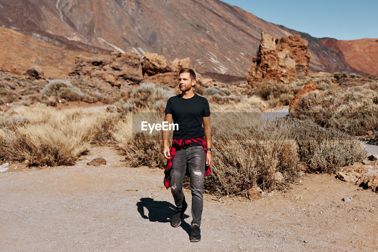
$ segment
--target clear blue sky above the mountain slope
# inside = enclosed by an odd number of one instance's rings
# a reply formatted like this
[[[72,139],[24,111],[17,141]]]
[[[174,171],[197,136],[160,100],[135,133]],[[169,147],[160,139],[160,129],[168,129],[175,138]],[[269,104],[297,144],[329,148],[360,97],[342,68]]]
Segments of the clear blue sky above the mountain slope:
[[[378,0],[222,0],[313,37],[378,38]]]

